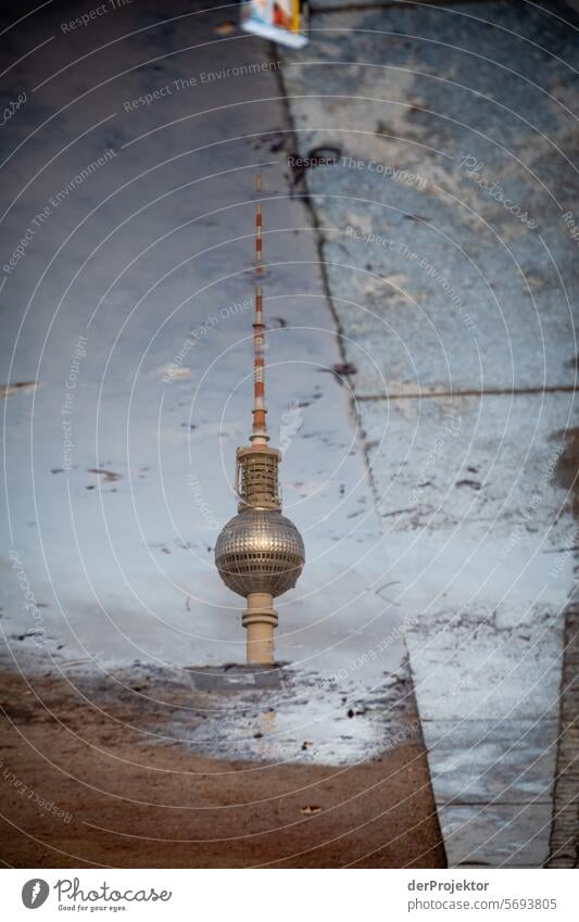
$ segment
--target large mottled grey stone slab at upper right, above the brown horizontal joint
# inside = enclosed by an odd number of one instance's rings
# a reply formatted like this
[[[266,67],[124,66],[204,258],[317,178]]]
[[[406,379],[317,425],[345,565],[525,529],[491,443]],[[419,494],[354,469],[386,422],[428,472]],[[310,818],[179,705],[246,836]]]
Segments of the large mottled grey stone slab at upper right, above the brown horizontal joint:
[[[340,149],[307,186],[357,394],[575,380],[572,31],[476,10],[320,14],[285,54],[300,153]]]

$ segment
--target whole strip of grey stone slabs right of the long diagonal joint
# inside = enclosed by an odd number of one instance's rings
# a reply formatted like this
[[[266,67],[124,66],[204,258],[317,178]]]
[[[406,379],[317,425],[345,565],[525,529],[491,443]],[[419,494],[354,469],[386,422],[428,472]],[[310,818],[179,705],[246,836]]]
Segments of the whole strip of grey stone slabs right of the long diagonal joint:
[[[299,153],[339,150],[307,192],[446,854],[540,866],[577,545],[576,467],[559,477],[576,419],[575,33],[550,4],[331,5],[282,78]]]

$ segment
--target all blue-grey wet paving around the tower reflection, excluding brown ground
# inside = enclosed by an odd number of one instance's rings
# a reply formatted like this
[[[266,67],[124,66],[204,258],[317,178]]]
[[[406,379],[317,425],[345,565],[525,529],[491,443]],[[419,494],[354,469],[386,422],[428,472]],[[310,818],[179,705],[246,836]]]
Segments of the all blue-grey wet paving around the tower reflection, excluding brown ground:
[[[124,8],[111,42],[45,9],[7,75],[10,657],[168,670],[211,711],[172,738],[224,758],[352,765],[418,712],[449,863],[540,866],[577,544],[572,35],[558,7],[378,5],[319,13],[298,55],[179,10]],[[336,163],[288,166],[316,148]],[[257,167],[307,566],[276,606],[288,666],[252,682],[224,669],[243,603],[213,547],[249,431]]]

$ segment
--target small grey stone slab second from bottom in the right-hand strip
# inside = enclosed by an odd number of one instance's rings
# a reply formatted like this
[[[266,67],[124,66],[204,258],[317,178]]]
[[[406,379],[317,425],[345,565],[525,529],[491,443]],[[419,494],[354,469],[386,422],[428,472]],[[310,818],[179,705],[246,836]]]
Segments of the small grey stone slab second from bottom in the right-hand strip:
[[[551,803],[558,721],[426,720],[438,804]]]

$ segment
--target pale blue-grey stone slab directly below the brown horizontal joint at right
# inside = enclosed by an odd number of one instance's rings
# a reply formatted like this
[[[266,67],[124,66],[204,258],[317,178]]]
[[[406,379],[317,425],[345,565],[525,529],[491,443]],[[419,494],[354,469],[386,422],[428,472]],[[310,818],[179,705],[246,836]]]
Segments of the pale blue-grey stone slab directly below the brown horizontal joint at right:
[[[572,395],[360,404],[424,719],[555,716]]]

